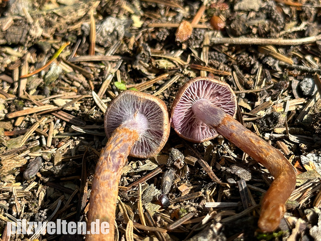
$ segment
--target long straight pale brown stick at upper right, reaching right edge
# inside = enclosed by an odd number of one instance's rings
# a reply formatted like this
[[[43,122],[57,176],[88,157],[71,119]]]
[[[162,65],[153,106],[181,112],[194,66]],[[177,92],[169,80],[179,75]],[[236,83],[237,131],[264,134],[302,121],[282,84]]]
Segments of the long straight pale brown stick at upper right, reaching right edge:
[[[295,39],[284,38],[211,38],[211,44],[300,45],[321,39],[321,34]]]

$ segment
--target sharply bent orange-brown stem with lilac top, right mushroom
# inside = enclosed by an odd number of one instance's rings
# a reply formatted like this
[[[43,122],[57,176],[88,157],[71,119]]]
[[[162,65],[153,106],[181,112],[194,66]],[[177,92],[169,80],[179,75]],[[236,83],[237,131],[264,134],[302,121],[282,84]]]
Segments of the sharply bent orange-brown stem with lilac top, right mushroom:
[[[241,123],[210,101],[201,99],[192,106],[195,117],[230,140],[255,161],[266,167],[274,176],[261,204],[258,227],[262,231],[274,231],[285,212],[285,202],[295,187],[293,166],[276,148],[246,129]]]

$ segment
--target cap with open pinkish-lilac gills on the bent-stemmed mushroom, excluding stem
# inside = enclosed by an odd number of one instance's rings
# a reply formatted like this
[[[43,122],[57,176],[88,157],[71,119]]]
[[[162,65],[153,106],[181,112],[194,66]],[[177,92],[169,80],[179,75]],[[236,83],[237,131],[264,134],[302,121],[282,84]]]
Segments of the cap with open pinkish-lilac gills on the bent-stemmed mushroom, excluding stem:
[[[171,124],[177,134],[192,142],[203,142],[218,132],[195,118],[192,105],[206,99],[231,116],[236,114],[236,97],[230,85],[208,77],[197,77],[185,83],[172,104]]]

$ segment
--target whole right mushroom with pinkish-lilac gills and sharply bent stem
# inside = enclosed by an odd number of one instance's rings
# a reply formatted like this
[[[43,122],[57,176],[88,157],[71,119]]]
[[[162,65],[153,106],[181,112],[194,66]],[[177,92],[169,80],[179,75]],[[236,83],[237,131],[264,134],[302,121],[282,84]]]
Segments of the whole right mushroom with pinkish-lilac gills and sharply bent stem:
[[[193,142],[209,140],[220,133],[270,171],[274,181],[262,200],[258,227],[274,231],[294,190],[295,171],[279,150],[236,121],[235,112],[236,98],[228,84],[198,77],[179,90],[172,105],[171,124],[178,135]]]

